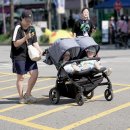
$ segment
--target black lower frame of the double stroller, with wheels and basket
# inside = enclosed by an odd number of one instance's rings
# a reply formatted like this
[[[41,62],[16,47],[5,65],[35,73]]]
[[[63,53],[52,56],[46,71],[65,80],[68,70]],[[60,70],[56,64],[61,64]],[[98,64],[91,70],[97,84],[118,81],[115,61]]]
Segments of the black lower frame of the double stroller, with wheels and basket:
[[[89,58],[88,60],[96,60],[96,59],[98,58],[91,58],[91,59]],[[84,96],[87,99],[91,99],[94,96],[94,89],[97,86],[103,86],[103,85],[107,85],[107,89],[104,92],[104,97],[107,101],[111,101],[113,99],[112,84],[108,76],[104,73],[105,68],[102,68],[100,72],[98,70],[93,69],[92,70],[93,72],[100,73],[100,75],[96,76],[93,75],[92,77],[87,75],[87,77],[83,79],[84,81],[81,81],[80,83],[79,79],[78,80],[77,78],[72,79],[70,75],[63,68],[66,64],[70,64],[77,61],[78,62],[83,61],[83,59],[68,61],[65,64],[62,64],[61,67],[59,68],[57,74],[56,86],[52,88],[49,92],[49,99],[51,103],[53,104],[59,103],[60,97],[64,96],[75,99],[76,103],[79,106],[81,106],[85,102]],[[64,71],[67,78],[61,77],[60,75],[61,70]],[[87,72],[84,71],[83,73],[86,74]],[[103,78],[105,78],[107,81],[102,82]],[[82,84],[82,82],[84,82],[85,84]]]

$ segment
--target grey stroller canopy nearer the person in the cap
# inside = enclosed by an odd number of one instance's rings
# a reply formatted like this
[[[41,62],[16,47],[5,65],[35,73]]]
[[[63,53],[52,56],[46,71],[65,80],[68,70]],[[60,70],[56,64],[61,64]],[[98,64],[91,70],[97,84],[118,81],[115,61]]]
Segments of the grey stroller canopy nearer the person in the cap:
[[[48,52],[53,64],[58,64],[66,51],[70,52],[72,59],[79,55],[80,46],[74,38],[59,39],[49,47]]]

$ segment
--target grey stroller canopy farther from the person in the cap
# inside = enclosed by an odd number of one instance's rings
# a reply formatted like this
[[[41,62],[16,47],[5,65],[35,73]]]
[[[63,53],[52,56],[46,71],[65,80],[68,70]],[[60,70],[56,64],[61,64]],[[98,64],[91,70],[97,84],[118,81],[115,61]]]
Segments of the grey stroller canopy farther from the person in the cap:
[[[94,39],[92,37],[88,37],[88,36],[77,37],[76,42],[79,44],[79,46],[81,48],[79,58],[86,56],[85,50],[89,47],[95,48],[96,55],[97,55],[98,51],[100,50],[100,46],[94,41]]]

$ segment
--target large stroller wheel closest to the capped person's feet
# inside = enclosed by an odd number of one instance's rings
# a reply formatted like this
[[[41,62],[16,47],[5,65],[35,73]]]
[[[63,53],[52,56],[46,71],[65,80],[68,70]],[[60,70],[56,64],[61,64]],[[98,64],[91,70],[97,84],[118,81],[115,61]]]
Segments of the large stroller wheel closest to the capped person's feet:
[[[60,100],[60,94],[59,91],[56,88],[52,88],[49,92],[49,99],[52,104],[59,103]]]

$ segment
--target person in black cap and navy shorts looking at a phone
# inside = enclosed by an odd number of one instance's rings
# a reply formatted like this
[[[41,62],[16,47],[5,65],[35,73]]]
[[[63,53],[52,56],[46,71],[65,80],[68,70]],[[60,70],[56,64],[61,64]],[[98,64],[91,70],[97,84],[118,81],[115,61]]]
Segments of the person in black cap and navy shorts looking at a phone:
[[[16,25],[12,36],[11,59],[13,64],[13,73],[17,74],[16,86],[19,93],[19,103],[35,103],[37,100],[31,95],[38,77],[38,66],[35,61],[31,61],[28,55],[28,44],[37,48],[40,55],[42,50],[37,42],[37,36],[32,26],[31,10],[24,10],[21,15],[20,24]],[[23,94],[24,75],[29,73],[30,78],[27,83],[27,90]]]

